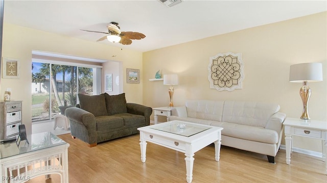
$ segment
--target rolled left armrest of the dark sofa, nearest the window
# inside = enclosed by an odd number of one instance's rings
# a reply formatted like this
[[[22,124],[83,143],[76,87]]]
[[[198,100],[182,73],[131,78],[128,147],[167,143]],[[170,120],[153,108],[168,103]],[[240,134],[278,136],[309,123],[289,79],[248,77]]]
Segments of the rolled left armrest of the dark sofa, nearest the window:
[[[86,127],[88,130],[96,131],[96,117],[83,109],[72,107],[65,110],[65,116],[76,123]]]

